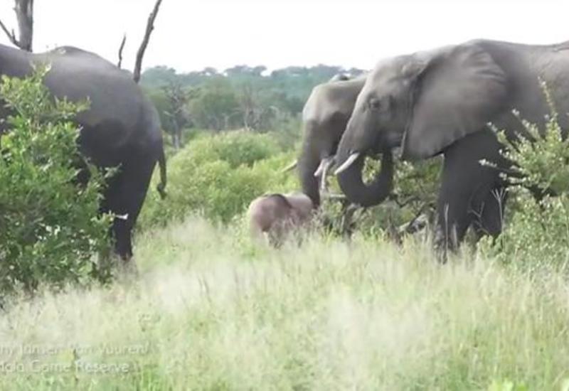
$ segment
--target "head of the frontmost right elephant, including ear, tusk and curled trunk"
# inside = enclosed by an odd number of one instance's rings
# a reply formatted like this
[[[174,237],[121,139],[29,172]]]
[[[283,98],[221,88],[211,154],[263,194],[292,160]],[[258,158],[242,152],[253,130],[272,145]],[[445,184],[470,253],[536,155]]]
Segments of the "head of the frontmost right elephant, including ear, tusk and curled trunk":
[[[477,42],[381,61],[336,153],[342,191],[356,203],[381,203],[385,192],[362,181],[366,154],[401,146],[403,159],[427,159],[484,129],[505,98],[504,72]]]

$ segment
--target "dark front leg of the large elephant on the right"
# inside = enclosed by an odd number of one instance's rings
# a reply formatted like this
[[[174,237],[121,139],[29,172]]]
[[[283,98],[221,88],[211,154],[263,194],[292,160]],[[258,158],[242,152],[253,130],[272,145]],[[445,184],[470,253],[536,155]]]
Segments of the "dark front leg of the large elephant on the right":
[[[477,207],[491,196],[499,182],[498,171],[482,166],[482,159],[502,164],[498,141],[491,132],[470,134],[445,150],[435,237],[436,247],[445,255],[462,242],[476,218]]]

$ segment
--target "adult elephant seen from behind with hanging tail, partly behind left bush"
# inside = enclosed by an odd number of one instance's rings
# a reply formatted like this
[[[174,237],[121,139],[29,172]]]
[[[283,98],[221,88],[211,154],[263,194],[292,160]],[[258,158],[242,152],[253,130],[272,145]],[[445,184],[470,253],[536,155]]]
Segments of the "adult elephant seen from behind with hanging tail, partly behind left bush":
[[[158,113],[130,73],[94,53],[61,47],[33,54],[0,45],[0,75],[25,77],[34,64],[50,67],[44,82],[54,97],[90,102],[75,119],[81,129],[78,143],[96,166],[119,167],[107,184],[101,210],[117,215],[112,225],[115,252],[126,261],[132,257],[132,228],[156,162],[164,196],[166,164]],[[0,118],[7,114],[0,102]]]

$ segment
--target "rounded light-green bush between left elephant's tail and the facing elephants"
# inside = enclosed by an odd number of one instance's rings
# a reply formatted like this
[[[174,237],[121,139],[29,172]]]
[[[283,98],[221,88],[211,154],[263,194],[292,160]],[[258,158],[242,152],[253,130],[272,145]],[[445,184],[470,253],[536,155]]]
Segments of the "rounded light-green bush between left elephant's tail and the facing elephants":
[[[179,220],[188,213],[227,223],[263,193],[294,191],[295,173],[280,173],[295,157],[271,133],[233,131],[199,136],[168,161],[168,198],[149,194],[141,227]]]

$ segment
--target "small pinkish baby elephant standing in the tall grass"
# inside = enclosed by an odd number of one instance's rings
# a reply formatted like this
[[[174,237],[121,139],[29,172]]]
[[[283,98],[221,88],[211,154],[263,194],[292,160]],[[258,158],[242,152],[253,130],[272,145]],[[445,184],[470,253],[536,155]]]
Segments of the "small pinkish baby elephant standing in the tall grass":
[[[268,194],[255,198],[249,205],[248,220],[255,240],[268,240],[278,247],[294,229],[310,220],[312,200],[304,193]]]

